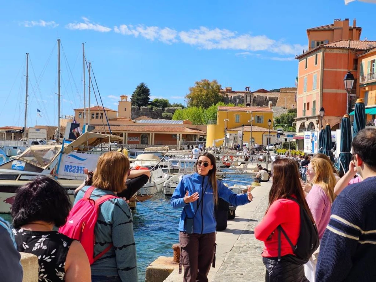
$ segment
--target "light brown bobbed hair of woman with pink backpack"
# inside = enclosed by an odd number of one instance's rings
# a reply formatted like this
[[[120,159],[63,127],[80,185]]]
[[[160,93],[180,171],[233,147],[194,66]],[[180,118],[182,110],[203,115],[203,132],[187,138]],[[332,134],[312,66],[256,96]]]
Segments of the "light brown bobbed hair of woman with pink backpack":
[[[124,191],[124,177],[129,171],[129,159],[120,152],[107,152],[98,159],[92,186],[115,193]]]

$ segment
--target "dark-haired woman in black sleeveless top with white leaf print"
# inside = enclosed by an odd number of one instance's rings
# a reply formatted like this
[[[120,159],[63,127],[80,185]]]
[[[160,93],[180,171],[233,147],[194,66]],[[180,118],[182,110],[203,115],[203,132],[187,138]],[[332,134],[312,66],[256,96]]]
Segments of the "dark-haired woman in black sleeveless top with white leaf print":
[[[17,189],[12,205],[17,250],[38,257],[39,281],[91,281],[81,243],[53,230],[65,224],[70,209],[67,190],[51,177],[37,177]]]

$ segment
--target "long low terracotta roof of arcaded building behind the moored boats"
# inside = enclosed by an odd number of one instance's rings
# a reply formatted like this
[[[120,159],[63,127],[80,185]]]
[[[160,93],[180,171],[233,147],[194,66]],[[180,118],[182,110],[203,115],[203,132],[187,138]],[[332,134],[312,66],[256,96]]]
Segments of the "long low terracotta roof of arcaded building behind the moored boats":
[[[108,130],[108,126],[105,126]],[[103,126],[96,126],[95,130],[104,130]],[[197,133],[205,134],[205,132],[198,129],[191,129],[185,126],[161,126],[161,125],[111,125],[112,131],[139,131],[139,132],[171,132],[171,133]]]

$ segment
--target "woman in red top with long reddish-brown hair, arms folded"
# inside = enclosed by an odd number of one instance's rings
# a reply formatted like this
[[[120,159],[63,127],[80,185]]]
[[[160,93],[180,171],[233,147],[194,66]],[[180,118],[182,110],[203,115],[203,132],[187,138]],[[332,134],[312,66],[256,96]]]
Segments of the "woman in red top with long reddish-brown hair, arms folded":
[[[277,227],[282,226],[294,245],[300,233],[300,207],[287,198],[297,199],[314,222],[300,184],[298,167],[291,159],[277,159],[273,162],[272,173],[273,185],[269,193],[269,207],[265,217],[255,228],[256,239],[264,241],[265,244],[262,252],[262,262],[266,267],[265,281],[308,282],[304,276],[303,264],[294,259],[293,249],[283,234],[281,259],[278,261]]]

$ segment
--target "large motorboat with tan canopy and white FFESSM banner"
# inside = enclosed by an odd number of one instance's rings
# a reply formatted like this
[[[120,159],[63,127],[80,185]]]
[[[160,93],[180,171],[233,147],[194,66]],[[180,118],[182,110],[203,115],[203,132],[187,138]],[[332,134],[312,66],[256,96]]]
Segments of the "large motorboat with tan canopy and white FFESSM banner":
[[[84,168],[94,170],[99,152],[92,149],[119,141],[116,135],[85,132],[70,144],[30,146],[12,161],[0,165],[0,213],[10,212],[15,191],[39,175],[55,178],[73,200],[74,190],[86,178]]]

